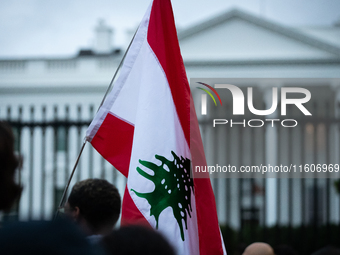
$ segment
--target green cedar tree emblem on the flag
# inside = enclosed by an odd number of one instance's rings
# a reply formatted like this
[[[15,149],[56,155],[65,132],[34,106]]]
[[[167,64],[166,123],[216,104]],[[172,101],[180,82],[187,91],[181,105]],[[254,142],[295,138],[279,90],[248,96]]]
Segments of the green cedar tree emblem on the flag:
[[[145,198],[151,206],[150,216],[156,219],[156,228],[158,228],[158,219],[161,212],[171,207],[174,217],[181,231],[181,237],[184,241],[184,231],[182,219],[187,226],[187,215],[191,218],[191,191],[194,191],[193,181],[190,178],[190,160],[179,158],[173,151],[174,160],[170,161],[163,156],[155,155],[160,160],[161,165],[139,160],[143,166],[154,172],[150,175],[137,167],[137,172],[143,177],[149,179],[155,184],[155,189],[150,193],[139,193],[133,189],[133,192],[141,198]]]

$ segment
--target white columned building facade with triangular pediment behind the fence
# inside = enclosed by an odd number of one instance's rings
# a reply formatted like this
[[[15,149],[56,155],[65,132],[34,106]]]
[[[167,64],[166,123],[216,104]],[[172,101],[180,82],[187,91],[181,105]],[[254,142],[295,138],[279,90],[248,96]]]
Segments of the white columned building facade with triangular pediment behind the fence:
[[[123,51],[110,44],[110,28],[101,23],[96,33],[96,47],[76,56],[0,59],[0,119],[27,123],[19,129],[17,146],[26,162],[20,176],[24,185],[20,219],[52,217],[55,192],[65,185],[86,129],[75,125],[66,132],[59,129],[60,123],[46,127],[29,123],[91,120],[123,57]],[[231,10],[184,29],[178,38],[196,104],[201,96],[196,82],[209,84],[213,78],[228,79],[243,91],[253,87],[254,104],[263,109],[272,103],[273,87],[303,87],[312,94],[308,108],[313,117],[333,120],[306,121],[292,132],[217,130],[204,124],[197,105],[208,164],[339,164],[339,26],[290,28]],[[227,112],[230,94],[220,94],[226,102],[220,111]],[[212,106],[208,108],[211,111]],[[67,140],[67,145],[56,143],[58,139]],[[74,181],[91,176],[108,178],[124,191],[124,178],[88,146]],[[252,221],[265,225],[340,222],[333,180],[278,180],[213,179],[220,222],[234,228]]]

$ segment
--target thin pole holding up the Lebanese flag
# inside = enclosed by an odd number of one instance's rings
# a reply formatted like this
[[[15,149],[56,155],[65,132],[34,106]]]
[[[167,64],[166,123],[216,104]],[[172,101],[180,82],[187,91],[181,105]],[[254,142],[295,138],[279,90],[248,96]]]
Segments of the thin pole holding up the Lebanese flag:
[[[108,87],[107,90],[106,90],[106,93],[105,93],[105,95],[104,95],[104,97],[103,97],[102,102],[100,103],[100,105],[99,105],[99,107],[98,107],[97,112],[99,111],[100,107],[103,105],[103,103],[104,103],[104,101],[105,101],[107,95],[109,94],[109,92],[110,92],[110,90],[111,90],[111,87],[112,87],[112,85],[113,85],[113,81],[115,80],[115,78],[116,78],[116,76],[117,76],[117,74],[118,74],[118,71],[120,70],[120,68],[121,68],[122,65],[123,65],[124,59],[125,59],[125,57],[126,57],[126,54],[127,54],[127,52],[129,51],[129,49],[130,49],[130,47],[131,47],[131,44],[132,44],[132,42],[133,42],[133,39],[134,39],[135,36],[136,36],[137,31],[138,31],[138,28],[137,28],[135,34],[133,35],[133,37],[132,37],[132,39],[131,39],[131,41],[130,41],[130,43],[129,43],[129,46],[128,46],[127,49],[126,49],[126,51],[125,51],[125,53],[124,53],[124,56],[123,56],[122,60],[120,61],[119,65],[118,65],[118,67],[117,67],[117,69],[116,69],[115,74],[113,75],[113,77],[112,77],[112,79],[111,79],[110,85],[109,85],[109,87]],[[64,202],[65,202],[65,198],[66,198],[66,194],[67,194],[68,188],[69,188],[69,186],[70,186],[70,183],[71,183],[72,177],[73,177],[73,175],[74,175],[74,172],[76,171],[76,168],[77,168],[77,166],[78,166],[78,163],[79,163],[80,157],[81,157],[81,155],[82,155],[82,153],[83,153],[83,150],[84,150],[84,148],[85,148],[86,142],[87,142],[87,139],[86,139],[86,137],[85,137],[85,138],[84,138],[84,142],[83,142],[83,146],[82,146],[81,149],[80,149],[78,158],[77,158],[77,160],[76,160],[76,162],[75,162],[75,164],[74,164],[74,167],[73,167],[73,170],[72,170],[72,172],[71,172],[70,178],[68,179],[67,185],[66,185],[66,187],[65,187],[65,189],[64,189],[64,192],[63,192],[63,195],[62,195],[62,197],[61,197],[61,199],[60,199],[60,203],[59,203],[59,206],[58,206],[58,208],[57,208],[57,211],[56,211],[56,214],[55,214],[55,216],[54,216],[54,219],[56,219],[56,218],[58,217],[58,215],[59,215],[59,209],[63,206],[63,204],[64,204]]]

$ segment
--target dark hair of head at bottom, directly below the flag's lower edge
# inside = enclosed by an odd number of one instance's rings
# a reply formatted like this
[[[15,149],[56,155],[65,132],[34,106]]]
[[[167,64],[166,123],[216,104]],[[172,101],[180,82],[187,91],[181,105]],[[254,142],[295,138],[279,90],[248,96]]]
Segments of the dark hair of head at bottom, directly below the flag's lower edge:
[[[175,255],[168,241],[150,227],[121,227],[105,236],[101,244],[112,255]]]

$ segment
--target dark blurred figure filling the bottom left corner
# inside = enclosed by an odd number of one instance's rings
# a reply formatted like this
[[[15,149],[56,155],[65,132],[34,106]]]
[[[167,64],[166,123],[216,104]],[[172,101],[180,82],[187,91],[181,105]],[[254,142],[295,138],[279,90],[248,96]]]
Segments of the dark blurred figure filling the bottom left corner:
[[[0,229],[1,255],[105,255],[66,219],[6,224]]]

